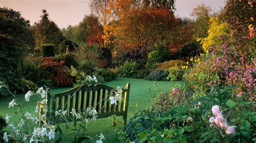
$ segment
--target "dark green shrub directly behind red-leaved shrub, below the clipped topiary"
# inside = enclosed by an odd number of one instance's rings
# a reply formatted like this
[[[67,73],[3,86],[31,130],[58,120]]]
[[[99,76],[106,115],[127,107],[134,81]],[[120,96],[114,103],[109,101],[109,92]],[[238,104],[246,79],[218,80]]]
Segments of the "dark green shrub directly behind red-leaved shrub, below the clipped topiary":
[[[56,62],[64,61],[64,65],[69,68],[71,66],[75,68],[78,66],[75,55],[73,55],[72,53],[56,55],[52,58],[52,61],[56,61]]]

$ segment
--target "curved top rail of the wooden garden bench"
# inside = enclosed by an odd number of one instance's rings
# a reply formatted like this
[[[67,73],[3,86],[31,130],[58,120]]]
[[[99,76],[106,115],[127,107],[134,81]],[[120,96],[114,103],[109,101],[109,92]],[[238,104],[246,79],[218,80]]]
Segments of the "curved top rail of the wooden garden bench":
[[[66,96],[66,95],[70,95],[70,94],[73,94],[75,93],[76,91],[85,91],[85,92],[90,92],[90,91],[97,91],[99,89],[105,89],[105,90],[112,90],[113,88],[112,87],[109,87],[107,85],[104,85],[104,84],[95,84],[95,85],[79,85],[77,87],[74,87],[70,90],[67,90],[67,91],[64,91],[64,92],[60,92],[60,93],[57,93],[57,94],[54,94],[53,97],[62,97],[62,96]],[[123,91],[127,91],[126,89],[123,89]]]

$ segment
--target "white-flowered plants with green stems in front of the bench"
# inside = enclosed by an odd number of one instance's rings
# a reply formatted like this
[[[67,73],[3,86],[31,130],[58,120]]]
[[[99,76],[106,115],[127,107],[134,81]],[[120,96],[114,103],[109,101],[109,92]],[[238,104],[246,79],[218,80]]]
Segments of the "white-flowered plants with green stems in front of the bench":
[[[8,87],[2,82],[0,87],[6,88],[10,92]],[[113,89],[113,92],[115,94],[111,95],[109,97],[109,100],[111,104],[117,104],[116,102],[122,99],[123,90],[117,87],[116,89]],[[50,121],[50,119],[46,118],[46,115],[45,115],[45,112],[52,110],[52,109],[49,109],[49,106],[47,104],[48,100],[46,99],[46,94],[50,94],[50,89],[45,90],[43,87],[41,87],[41,88],[38,88],[36,93],[32,91],[28,91],[25,94],[26,102],[30,101],[31,96],[39,96],[42,98],[42,101],[40,102],[40,106],[42,106],[40,107],[41,109],[39,109],[38,105],[35,108],[35,113],[38,113],[39,110],[42,110],[42,112],[44,113],[42,116],[39,116],[39,118],[33,115],[32,113],[29,113],[28,111],[24,111],[24,108],[22,107],[21,104],[19,104],[16,96],[12,94],[12,92],[10,92],[10,94],[14,97],[14,99],[9,103],[9,108],[16,108],[16,106],[18,106],[19,110],[18,112],[15,112],[15,113],[19,119],[19,123],[17,125],[12,124],[11,118],[14,118],[14,117],[11,117],[8,114],[6,114],[5,123],[9,124],[8,127],[10,128],[10,132],[3,133],[2,139],[5,142],[63,141],[62,140],[63,132],[59,127],[59,125],[60,123],[62,123],[63,120],[66,121],[67,123],[70,123],[70,119],[73,122],[72,124],[73,127],[75,127],[75,130],[77,131],[77,134],[75,135],[75,138],[74,138],[74,142],[82,142],[87,139],[93,140],[91,137],[85,136],[85,131],[87,130],[87,128],[90,127],[93,121],[96,120],[97,118],[98,112],[95,110],[95,108],[92,108],[92,109],[87,108],[85,112],[80,112],[80,111],[76,112],[75,109],[72,109],[72,111],[70,112],[71,118],[69,119],[66,116],[68,111],[66,110],[55,111],[57,122],[53,124]],[[81,121],[77,123],[77,120],[81,120]],[[1,127],[0,130],[2,130],[2,127],[5,126],[5,123],[3,124],[1,122],[3,126],[2,125],[0,126]],[[22,134],[22,135],[19,135],[19,134]],[[105,139],[104,135],[100,133],[99,140],[97,140],[96,142],[103,142],[103,139]]]

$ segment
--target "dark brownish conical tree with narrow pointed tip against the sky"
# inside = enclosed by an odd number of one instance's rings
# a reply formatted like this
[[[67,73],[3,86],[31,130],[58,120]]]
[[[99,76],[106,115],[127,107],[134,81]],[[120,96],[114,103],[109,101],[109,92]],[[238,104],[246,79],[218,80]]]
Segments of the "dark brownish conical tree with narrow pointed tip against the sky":
[[[46,10],[42,10],[41,19],[35,23],[35,49],[40,50],[42,44],[58,45],[64,40],[63,33],[58,26],[49,19],[49,14]]]

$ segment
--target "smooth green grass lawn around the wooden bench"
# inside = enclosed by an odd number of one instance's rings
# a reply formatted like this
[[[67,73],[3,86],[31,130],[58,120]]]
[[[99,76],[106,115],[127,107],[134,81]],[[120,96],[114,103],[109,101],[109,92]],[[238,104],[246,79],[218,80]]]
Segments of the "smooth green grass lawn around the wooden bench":
[[[130,99],[129,99],[129,110],[128,110],[128,120],[133,116],[132,110],[145,109],[147,106],[150,106],[151,97],[149,96],[149,88],[154,89],[153,81],[147,81],[142,79],[133,79],[133,78],[118,78],[117,80],[105,83],[111,87],[123,87],[125,88],[126,83],[131,84],[130,89]],[[157,81],[156,85],[158,88],[163,91],[169,92],[176,84],[180,84],[181,82],[170,82],[170,81]],[[70,88],[59,88],[52,89],[52,94],[57,92],[62,92],[68,90]],[[40,101],[41,98],[32,96],[30,97],[30,102],[25,102],[24,94],[20,94],[16,96],[18,98],[19,103],[24,106],[24,110],[30,113],[35,112],[35,107],[37,101]],[[9,102],[11,102],[13,97],[5,97],[0,99],[0,116],[5,117],[8,113],[9,116],[15,116],[15,111],[18,110],[17,106],[15,108],[8,108]],[[138,106],[136,106],[138,105]],[[118,117],[119,120],[122,117]],[[10,118],[10,123],[13,122],[15,125],[18,123],[17,117]],[[99,139],[97,136],[102,133],[105,136],[104,142],[119,142],[118,134],[116,131],[122,129],[120,126],[112,127],[112,122],[110,118],[97,119],[92,126],[87,130],[87,134],[92,138]],[[68,130],[66,130],[66,125],[62,124],[62,130],[64,133],[64,142],[70,142],[75,137],[76,132],[72,131],[72,126]],[[116,130],[116,131],[115,131]]]

